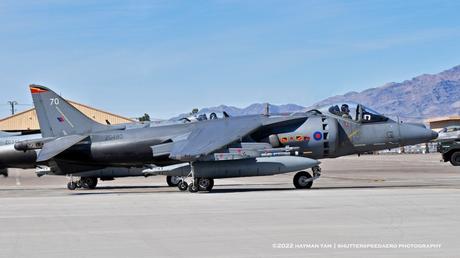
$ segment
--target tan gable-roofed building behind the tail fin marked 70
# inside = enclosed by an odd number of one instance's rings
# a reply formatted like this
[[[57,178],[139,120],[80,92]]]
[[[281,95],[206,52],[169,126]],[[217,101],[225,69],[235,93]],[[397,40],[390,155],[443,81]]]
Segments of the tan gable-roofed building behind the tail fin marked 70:
[[[86,116],[101,124],[132,123],[132,119],[102,111],[87,105],[69,101],[74,107]],[[0,131],[35,133],[40,131],[35,108],[17,113],[13,116],[0,120]]]

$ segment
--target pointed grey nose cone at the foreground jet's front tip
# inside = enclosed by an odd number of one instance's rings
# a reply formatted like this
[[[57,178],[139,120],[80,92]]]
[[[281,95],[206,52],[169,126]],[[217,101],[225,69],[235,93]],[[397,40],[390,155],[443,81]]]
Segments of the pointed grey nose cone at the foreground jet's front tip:
[[[419,124],[401,124],[401,143],[414,145],[438,138],[438,133]]]

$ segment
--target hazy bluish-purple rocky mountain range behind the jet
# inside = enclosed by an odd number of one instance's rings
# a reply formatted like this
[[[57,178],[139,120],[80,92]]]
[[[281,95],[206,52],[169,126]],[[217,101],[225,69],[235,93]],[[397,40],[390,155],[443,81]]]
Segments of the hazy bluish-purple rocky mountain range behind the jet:
[[[333,96],[309,107],[296,104],[271,105],[270,113],[305,111],[332,103],[356,102],[390,117],[405,121],[460,115],[460,65],[438,74],[423,74],[403,82],[391,82],[361,92],[351,91]],[[266,104],[256,103],[246,108],[221,105],[203,108],[200,113],[227,112],[232,116],[262,114]]]

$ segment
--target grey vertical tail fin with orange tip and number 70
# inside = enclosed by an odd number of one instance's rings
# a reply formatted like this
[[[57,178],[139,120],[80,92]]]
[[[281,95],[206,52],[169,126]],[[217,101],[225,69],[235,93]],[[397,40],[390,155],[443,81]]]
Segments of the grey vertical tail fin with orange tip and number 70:
[[[85,135],[111,127],[97,123],[84,115],[54,91],[30,85],[30,92],[37,111],[43,137],[62,137],[72,134]]]

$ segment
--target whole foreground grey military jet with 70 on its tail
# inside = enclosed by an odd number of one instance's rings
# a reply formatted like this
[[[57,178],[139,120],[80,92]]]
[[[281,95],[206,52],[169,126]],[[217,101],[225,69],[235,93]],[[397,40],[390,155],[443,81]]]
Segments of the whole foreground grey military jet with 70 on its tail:
[[[437,137],[423,125],[396,122],[359,104],[123,130],[94,122],[46,87],[30,88],[44,139],[17,144],[17,149],[41,149],[37,162],[49,166],[48,173],[79,176],[94,187],[98,178],[131,170],[178,176],[179,189],[191,192],[210,191],[216,178],[300,171],[293,182],[305,189],[321,175],[317,159]],[[308,168],[313,176],[301,171]],[[75,189],[76,183],[68,187]]]

